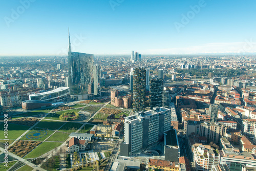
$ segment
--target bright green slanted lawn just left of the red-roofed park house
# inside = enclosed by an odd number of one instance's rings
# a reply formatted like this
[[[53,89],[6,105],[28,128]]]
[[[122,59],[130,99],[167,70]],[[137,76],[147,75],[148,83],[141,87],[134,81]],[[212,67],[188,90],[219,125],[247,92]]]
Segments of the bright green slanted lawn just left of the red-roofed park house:
[[[39,156],[51,151],[52,149],[54,149],[55,147],[57,147],[61,144],[62,144],[61,142],[42,142],[38,147],[33,149],[33,151],[30,152],[24,158],[28,159],[28,158],[39,157]]]

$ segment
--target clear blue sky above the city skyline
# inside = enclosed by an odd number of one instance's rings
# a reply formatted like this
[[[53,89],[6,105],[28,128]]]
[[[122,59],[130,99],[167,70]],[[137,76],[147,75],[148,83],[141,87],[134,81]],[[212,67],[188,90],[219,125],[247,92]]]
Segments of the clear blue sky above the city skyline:
[[[68,27],[72,50],[96,55],[256,52],[255,7],[255,0],[0,0],[0,56],[66,55]]]

